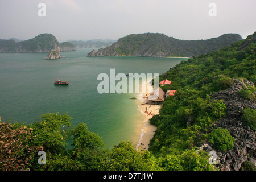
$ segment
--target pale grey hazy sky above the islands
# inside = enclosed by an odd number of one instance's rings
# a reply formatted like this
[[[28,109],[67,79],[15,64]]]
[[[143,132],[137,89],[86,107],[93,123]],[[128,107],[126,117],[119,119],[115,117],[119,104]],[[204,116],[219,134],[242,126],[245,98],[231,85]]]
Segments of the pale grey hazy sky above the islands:
[[[46,16],[39,17],[39,3]],[[210,3],[216,16],[209,16]],[[144,32],[183,40],[256,31],[255,0],[0,0],[0,39],[51,33],[66,40],[118,39]],[[213,11],[211,11],[213,12]]]

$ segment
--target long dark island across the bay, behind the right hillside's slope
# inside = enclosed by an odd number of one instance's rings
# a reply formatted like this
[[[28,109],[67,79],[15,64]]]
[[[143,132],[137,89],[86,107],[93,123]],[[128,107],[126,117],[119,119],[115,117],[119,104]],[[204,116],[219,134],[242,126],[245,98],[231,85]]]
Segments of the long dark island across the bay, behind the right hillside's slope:
[[[192,57],[217,51],[239,40],[243,40],[239,34],[224,34],[207,40],[179,40],[158,33],[130,34],[87,56]]]

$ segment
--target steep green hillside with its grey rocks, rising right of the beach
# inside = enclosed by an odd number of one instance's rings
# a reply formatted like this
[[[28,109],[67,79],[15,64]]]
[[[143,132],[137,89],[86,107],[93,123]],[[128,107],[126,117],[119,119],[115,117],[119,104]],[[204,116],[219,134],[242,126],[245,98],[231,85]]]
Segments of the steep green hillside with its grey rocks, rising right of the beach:
[[[218,51],[181,61],[160,75],[177,90],[167,97],[149,150],[179,155],[187,148],[216,152],[221,170],[256,165],[256,32]],[[248,162],[250,161],[250,162]]]

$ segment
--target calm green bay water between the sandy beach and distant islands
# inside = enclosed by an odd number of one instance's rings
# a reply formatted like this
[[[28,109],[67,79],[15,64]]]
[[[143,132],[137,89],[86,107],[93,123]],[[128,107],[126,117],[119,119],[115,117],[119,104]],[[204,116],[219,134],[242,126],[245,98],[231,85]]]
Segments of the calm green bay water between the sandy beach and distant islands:
[[[108,147],[134,140],[142,118],[134,94],[99,94],[100,73],[164,73],[181,60],[149,57],[86,57],[92,49],[61,52],[59,60],[44,60],[47,53],[0,53],[0,116],[2,122],[32,123],[41,114],[71,115],[72,124],[85,122]],[[56,86],[57,79],[69,86]],[[117,81],[118,82],[118,81]]]

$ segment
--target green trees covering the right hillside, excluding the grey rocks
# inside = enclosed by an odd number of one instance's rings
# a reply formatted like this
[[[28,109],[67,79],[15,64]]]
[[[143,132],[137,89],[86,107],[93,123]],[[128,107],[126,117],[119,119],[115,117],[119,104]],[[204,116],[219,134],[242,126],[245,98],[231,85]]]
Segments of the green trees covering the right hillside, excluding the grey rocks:
[[[207,136],[208,127],[225,114],[226,109],[221,100],[212,100],[210,94],[232,86],[232,78],[256,82],[255,51],[256,32],[232,46],[181,61],[160,75],[159,80],[172,81],[170,86],[163,86],[163,90],[177,91],[174,97],[164,100],[160,114],[151,119],[158,129],[149,150],[159,156],[177,155],[208,137],[216,148],[230,150],[233,138],[226,131],[214,130]],[[254,100],[255,87],[244,88],[239,93],[243,98]],[[255,110],[245,109],[242,118],[245,125],[255,130]],[[202,131],[205,134],[199,135]]]

